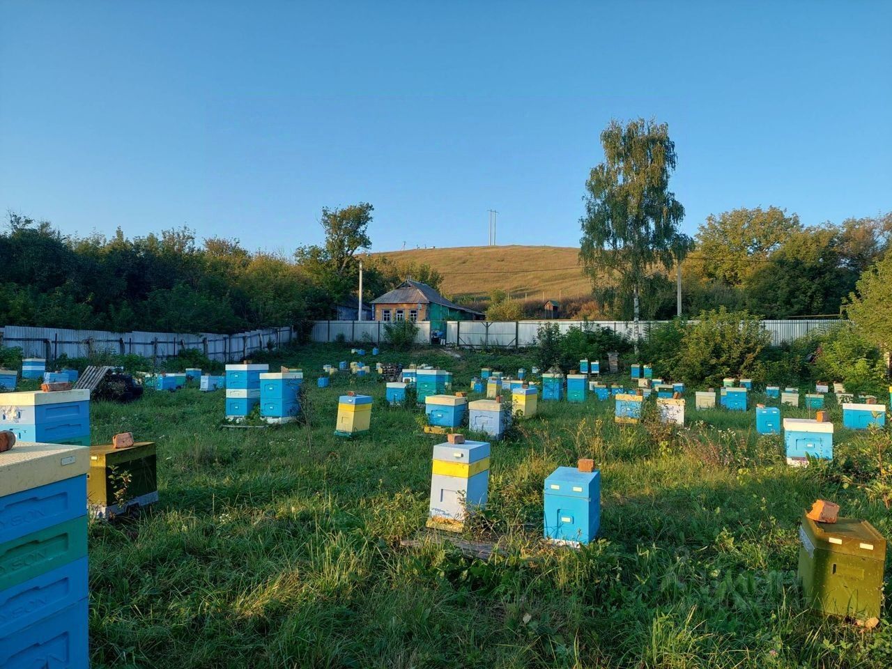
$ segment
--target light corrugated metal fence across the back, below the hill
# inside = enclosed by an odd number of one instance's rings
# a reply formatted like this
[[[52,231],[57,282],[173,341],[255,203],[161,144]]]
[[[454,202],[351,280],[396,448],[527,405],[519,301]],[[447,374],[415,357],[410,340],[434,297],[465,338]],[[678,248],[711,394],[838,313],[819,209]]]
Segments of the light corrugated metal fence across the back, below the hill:
[[[641,321],[641,334],[647,336],[651,326],[665,323],[664,320]],[[792,342],[815,330],[824,330],[837,321],[818,319],[764,320],[762,324],[772,335],[772,343],[777,345]],[[556,324],[561,332],[571,327],[606,327],[615,333],[632,337],[634,322],[631,320],[511,320],[502,323],[483,320],[450,320],[443,326],[443,343],[467,347],[515,347],[532,346],[540,326]],[[417,323],[417,343],[430,343],[431,324]],[[377,320],[318,320],[313,324],[310,340],[313,342],[336,342],[343,336],[344,342],[379,343],[386,341],[384,323]]]

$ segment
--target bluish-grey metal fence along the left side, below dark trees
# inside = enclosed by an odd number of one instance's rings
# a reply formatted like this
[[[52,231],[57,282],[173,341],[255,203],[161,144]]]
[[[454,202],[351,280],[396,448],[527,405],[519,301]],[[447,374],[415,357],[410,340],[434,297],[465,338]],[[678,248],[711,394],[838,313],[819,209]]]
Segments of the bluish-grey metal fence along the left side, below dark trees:
[[[55,327],[5,326],[0,343],[18,347],[26,358],[57,359],[87,357],[91,353],[141,355],[161,360],[172,358],[183,349],[198,349],[208,358],[229,362],[243,359],[254,351],[277,348],[293,339],[292,327],[270,327],[237,335],[200,333],[183,335],[169,332],[105,332],[103,330],[65,330]]]

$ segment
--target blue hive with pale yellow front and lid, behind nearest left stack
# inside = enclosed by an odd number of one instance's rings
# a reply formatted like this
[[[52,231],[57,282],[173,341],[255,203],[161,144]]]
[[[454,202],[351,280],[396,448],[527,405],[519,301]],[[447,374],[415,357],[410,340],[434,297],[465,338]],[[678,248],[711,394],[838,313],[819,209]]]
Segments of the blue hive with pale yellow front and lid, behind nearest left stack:
[[[7,392],[0,430],[22,442],[90,445],[90,392]]]

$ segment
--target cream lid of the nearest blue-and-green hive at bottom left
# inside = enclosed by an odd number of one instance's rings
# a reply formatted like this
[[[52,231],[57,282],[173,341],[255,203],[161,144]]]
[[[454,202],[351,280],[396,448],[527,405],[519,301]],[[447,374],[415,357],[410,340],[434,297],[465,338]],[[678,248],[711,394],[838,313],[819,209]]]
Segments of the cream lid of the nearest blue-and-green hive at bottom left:
[[[87,474],[89,453],[86,446],[16,442],[0,453],[0,497]]]

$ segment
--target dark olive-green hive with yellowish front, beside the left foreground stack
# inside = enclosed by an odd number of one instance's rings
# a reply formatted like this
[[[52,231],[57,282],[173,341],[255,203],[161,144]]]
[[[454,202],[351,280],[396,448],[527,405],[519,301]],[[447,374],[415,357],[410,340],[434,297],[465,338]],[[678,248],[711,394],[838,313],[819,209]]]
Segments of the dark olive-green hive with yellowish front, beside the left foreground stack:
[[[117,516],[130,507],[158,501],[158,464],[153,442],[136,442],[116,449],[111,444],[90,447],[87,504],[99,518]]]

